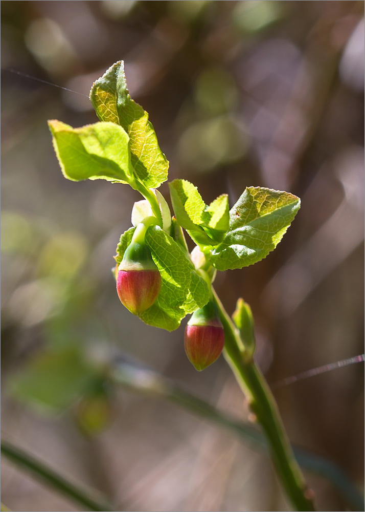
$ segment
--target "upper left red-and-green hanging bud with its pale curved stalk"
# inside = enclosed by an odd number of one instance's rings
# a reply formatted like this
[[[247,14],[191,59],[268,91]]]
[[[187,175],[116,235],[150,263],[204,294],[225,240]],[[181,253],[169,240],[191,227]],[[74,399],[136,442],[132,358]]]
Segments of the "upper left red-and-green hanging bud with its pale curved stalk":
[[[161,275],[144,241],[145,232],[146,226],[139,224],[117,275],[117,292],[121,303],[138,316],[152,306],[161,290]]]

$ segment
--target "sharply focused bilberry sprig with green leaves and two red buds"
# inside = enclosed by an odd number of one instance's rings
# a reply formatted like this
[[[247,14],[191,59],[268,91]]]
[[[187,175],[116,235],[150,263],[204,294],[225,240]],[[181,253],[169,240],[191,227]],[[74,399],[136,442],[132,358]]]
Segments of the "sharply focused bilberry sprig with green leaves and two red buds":
[[[285,191],[247,187],[229,208],[227,194],[207,205],[189,181],[169,183],[173,217],[158,191],[169,163],[158,146],[147,112],[128,92],[123,61],[96,80],[90,91],[99,122],[73,128],[49,121],[65,178],[104,179],[138,190],[132,226],[122,233],[113,269],[122,304],[143,322],[175,330],[192,314],[185,350],[197,370],[223,350],[261,424],[273,461],[293,505],[314,510],[280,419],[275,400],[254,361],[252,312],[240,298],[233,319],[213,289],[217,270],[252,265],[276,248],[300,208]],[[196,244],[189,253],[184,230]]]

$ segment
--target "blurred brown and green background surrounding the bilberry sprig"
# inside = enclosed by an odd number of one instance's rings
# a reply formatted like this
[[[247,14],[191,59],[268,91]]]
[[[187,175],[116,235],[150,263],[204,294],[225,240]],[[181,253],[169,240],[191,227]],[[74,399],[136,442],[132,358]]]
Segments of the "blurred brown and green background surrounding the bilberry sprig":
[[[105,377],[128,357],[246,419],[223,357],[202,373],[172,333],[120,304],[110,272],[126,185],[63,178],[48,119],[97,121],[95,79],[125,60],[170,161],[206,203],[246,186],[302,207],[275,252],[218,273],[252,307],[270,385],[363,352],[363,2],[2,1],[2,435],[118,510],[290,510],[268,458]],[[62,90],[21,74],[70,89]],[[168,199],[167,183],[162,193]],[[169,199],[168,199],[169,200]],[[193,245],[189,241],[189,247]],[[363,364],[274,390],[291,441],[363,482]],[[306,473],[320,510],[346,504]],[[12,510],[77,510],[2,463]]]

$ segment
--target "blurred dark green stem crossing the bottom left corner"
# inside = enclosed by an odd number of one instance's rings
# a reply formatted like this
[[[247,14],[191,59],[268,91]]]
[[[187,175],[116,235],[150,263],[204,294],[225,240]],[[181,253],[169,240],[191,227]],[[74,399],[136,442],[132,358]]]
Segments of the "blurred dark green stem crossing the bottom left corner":
[[[58,490],[58,492],[85,507],[87,510],[96,510],[99,512],[108,512],[113,510],[110,504],[90,496],[90,491],[87,492],[76,487],[76,485],[51,470],[50,467],[39,462],[33,456],[26,453],[24,450],[20,450],[11,443],[2,441],[1,454],[18,467],[22,467],[29,471],[37,478],[43,480],[43,482]]]

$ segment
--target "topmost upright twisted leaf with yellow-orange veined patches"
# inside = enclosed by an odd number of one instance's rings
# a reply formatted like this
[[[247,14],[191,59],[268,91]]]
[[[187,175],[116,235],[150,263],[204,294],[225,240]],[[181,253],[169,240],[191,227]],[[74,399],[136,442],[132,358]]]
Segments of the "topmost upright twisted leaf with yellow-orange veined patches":
[[[169,162],[158,146],[147,112],[129,95],[122,60],[94,82],[90,101],[101,121],[120,124],[129,135],[131,161],[139,180],[147,188],[166,181]]]

